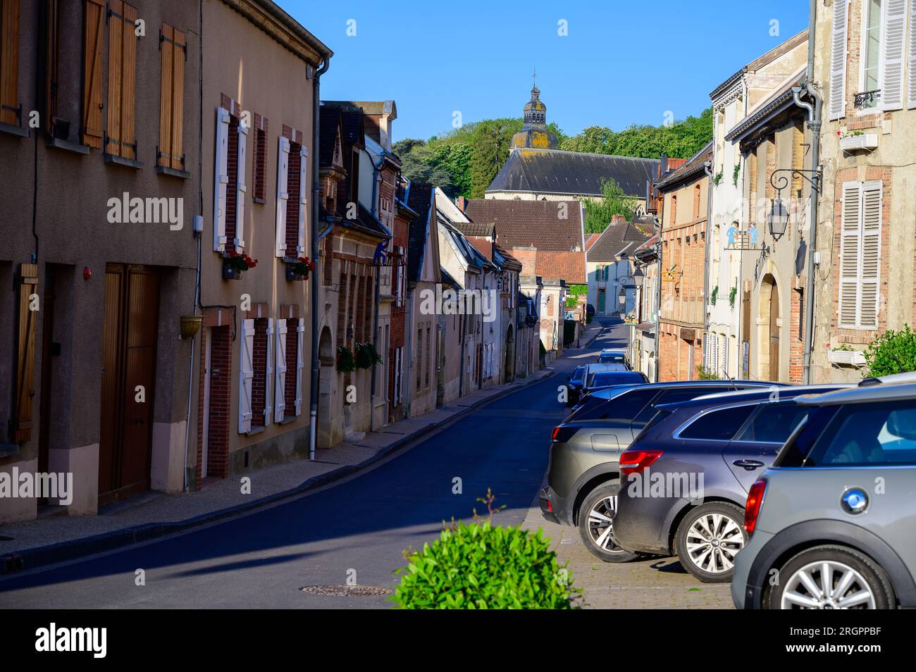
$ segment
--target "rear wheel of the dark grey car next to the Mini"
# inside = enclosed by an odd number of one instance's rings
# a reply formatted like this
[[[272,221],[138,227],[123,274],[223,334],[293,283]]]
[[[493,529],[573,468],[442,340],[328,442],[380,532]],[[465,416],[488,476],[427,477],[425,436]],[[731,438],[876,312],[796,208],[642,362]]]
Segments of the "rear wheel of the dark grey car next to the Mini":
[[[725,583],[735,573],[735,556],[747,543],[744,509],[727,502],[701,504],[678,526],[678,558],[703,583]]]

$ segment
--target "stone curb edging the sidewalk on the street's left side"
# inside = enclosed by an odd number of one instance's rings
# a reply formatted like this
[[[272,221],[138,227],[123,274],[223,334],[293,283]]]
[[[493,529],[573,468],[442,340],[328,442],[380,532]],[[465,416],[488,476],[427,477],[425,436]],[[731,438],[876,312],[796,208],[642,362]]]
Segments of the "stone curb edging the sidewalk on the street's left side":
[[[384,460],[392,453],[397,452],[399,449],[403,448],[405,445],[431,434],[432,432],[444,427],[445,425],[448,425],[456,419],[468,415],[480,406],[485,406],[492,401],[496,401],[496,399],[501,399],[504,396],[511,395],[521,389],[524,389],[525,387],[528,387],[529,385],[534,385],[536,383],[540,383],[541,381],[547,380],[556,373],[556,371],[551,371],[546,375],[532,378],[524,383],[521,383],[520,385],[507,387],[504,390],[500,390],[493,396],[488,396],[484,399],[475,401],[474,404],[467,406],[461,411],[458,411],[451,417],[446,417],[438,422],[434,422],[430,425],[419,428],[409,435],[401,437],[386,448],[378,450],[375,455],[367,458],[362,462],[357,464],[347,464],[338,467],[337,469],[333,469],[332,471],[327,471],[326,473],[319,474],[318,476],[312,476],[311,478],[306,479],[293,488],[289,488],[288,490],[284,490],[279,493],[268,494],[264,497],[256,499],[253,502],[236,504],[224,509],[217,509],[213,512],[196,515],[192,518],[187,518],[185,520],[180,520],[172,523],[145,523],[143,525],[125,527],[124,529],[114,530],[112,532],[104,532],[101,535],[94,535],[93,537],[83,537],[72,539],[70,541],[61,541],[58,544],[27,548],[25,550],[16,551],[4,556],[0,556],[0,582],[2,582],[5,578],[15,577],[16,574],[20,571],[54,565],[60,562],[66,562],[69,560],[82,558],[84,556],[94,555],[96,553],[103,553],[105,551],[115,550],[118,548],[130,547],[141,542],[169,537],[171,535],[189,530],[193,527],[199,527],[208,523],[223,520],[224,518],[230,518],[234,515],[242,514],[248,511],[254,511],[255,509],[266,506],[267,504],[277,504],[286,499],[293,499],[300,494],[307,493],[311,490],[315,490],[336,481],[341,481],[344,478],[353,475],[354,473],[364,471],[366,468],[375,464],[377,461]]]

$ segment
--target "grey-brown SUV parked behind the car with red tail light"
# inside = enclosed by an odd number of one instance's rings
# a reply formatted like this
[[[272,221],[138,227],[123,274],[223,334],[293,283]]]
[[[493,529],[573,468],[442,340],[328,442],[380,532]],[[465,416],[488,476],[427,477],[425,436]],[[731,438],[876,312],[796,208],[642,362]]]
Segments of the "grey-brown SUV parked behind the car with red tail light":
[[[684,401],[713,392],[772,385],[757,381],[682,381],[599,390],[573,410],[551,434],[546,488],[540,510],[548,520],[579,527],[596,557],[622,562],[636,554],[611,535],[616,510],[617,459],[649,418],[655,404]]]

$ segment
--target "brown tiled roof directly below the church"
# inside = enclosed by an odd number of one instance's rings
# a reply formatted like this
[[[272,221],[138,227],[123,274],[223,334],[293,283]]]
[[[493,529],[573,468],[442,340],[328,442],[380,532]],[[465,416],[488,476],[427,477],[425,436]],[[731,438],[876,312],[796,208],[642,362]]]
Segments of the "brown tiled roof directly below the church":
[[[566,219],[560,217],[566,203]],[[579,201],[507,201],[474,199],[465,214],[475,224],[495,224],[496,243],[507,250],[537,247],[539,250],[582,252],[582,209]]]

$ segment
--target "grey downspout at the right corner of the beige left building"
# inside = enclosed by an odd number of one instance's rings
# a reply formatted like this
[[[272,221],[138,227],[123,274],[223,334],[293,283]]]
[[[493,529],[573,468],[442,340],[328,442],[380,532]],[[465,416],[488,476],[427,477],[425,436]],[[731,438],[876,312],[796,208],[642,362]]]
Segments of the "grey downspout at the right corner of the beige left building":
[[[311,256],[315,265],[311,283],[311,386],[309,389],[309,460],[315,459],[315,442],[318,439],[318,372],[321,362],[318,359],[318,286],[319,278],[323,275],[322,255],[319,254],[321,238],[318,234],[319,208],[318,200],[321,192],[318,182],[318,147],[319,147],[319,119],[321,118],[322,104],[322,75],[331,67],[331,55],[327,54],[322,60],[322,67],[316,71],[311,81]],[[332,227],[328,227],[330,231]]]

